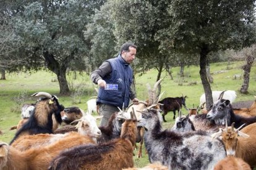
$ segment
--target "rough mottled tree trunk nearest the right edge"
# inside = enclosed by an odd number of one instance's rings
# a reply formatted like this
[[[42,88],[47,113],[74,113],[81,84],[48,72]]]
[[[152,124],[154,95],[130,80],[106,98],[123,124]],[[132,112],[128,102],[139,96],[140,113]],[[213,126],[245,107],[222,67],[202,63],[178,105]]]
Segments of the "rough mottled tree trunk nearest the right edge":
[[[249,87],[249,81],[250,81],[250,68],[252,67],[252,63],[254,63],[254,57],[252,55],[248,55],[246,58],[246,64],[242,67],[242,70],[244,70],[244,83],[242,84],[242,87],[240,89],[240,92],[242,94],[248,93],[248,87]]]

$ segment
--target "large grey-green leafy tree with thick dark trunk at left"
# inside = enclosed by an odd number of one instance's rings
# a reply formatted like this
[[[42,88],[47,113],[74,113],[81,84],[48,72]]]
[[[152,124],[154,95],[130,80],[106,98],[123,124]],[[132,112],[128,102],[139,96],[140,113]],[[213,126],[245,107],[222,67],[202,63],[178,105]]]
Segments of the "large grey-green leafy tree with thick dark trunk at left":
[[[44,66],[56,74],[60,94],[69,94],[67,68],[85,68],[88,41],[83,28],[90,15],[104,1],[47,1],[28,2],[20,6],[12,17],[14,38],[19,44],[16,55],[26,59],[25,70],[38,70]]]

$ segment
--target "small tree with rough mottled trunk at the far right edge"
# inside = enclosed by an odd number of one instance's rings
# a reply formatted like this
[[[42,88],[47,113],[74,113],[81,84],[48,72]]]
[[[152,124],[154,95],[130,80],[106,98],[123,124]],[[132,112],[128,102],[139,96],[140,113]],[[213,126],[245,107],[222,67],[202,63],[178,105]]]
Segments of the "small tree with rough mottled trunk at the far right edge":
[[[242,70],[244,70],[244,83],[241,86],[240,92],[247,94],[250,81],[250,68],[252,68],[252,64],[255,60],[256,45],[254,44],[252,47],[245,48],[243,51],[246,56],[246,63],[242,67]]]

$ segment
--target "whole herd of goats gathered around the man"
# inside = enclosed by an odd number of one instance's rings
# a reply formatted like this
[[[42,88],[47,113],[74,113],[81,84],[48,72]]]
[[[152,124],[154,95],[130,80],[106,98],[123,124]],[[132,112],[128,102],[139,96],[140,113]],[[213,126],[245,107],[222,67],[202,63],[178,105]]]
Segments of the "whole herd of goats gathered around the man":
[[[0,142],[0,169],[251,169],[256,168],[256,99],[250,108],[234,109],[236,94],[218,92],[210,110],[189,109],[186,96],[161,99],[161,79],[148,85],[148,100],[113,113],[97,126],[89,111],[64,108],[56,95],[37,92],[10,144]],[[225,96],[226,94],[226,96]],[[233,95],[233,98],[229,98]],[[201,107],[205,97],[201,97]],[[168,111],[178,111],[173,127],[163,129]],[[65,126],[59,126],[62,122]],[[1,131],[0,131],[1,132]],[[142,144],[150,164],[134,167],[134,148]]]

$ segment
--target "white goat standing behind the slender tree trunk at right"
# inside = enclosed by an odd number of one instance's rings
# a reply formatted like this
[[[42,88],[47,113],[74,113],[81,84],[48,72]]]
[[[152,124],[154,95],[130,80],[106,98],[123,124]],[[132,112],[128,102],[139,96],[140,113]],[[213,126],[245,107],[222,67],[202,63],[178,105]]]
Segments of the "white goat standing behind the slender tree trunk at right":
[[[212,91],[211,92],[211,95],[213,97],[213,103],[215,103],[218,100],[221,92],[223,92],[223,91]],[[223,95],[223,99],[229,100],[230,103],[233,103],[234,100],[236,99],[236,92],[235,91],[225,91],[225,94]],[[205,105],[205,103],[206,103],[205,94],[202,94],[200,97],[199,107],[205,108],[203,106],[203,105]]]

